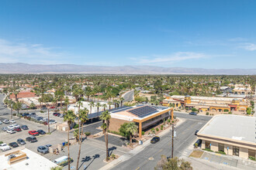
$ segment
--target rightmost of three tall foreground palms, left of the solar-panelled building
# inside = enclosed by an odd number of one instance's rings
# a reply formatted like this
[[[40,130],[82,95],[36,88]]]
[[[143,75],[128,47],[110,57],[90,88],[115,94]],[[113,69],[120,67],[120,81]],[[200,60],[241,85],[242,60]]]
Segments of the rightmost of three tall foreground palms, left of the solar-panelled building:
[[[111,118],[110,113],[108,110],[104,111],[102,115],[99,117],[100,120],[103,121],[102,124],[102,130],[103,134],[105,135],[105,142],[106,142],[106,161],[109,161],[109,136],[108,136],[108,130],[109,130],[109,120]]]

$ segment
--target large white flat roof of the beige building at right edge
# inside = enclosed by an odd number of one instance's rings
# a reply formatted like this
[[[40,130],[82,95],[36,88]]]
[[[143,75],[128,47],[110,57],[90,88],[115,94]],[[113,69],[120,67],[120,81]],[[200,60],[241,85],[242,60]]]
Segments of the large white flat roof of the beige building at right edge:
[[[221,114],[214,116],[198,134],[230,138],[255,144],[256,117]]]

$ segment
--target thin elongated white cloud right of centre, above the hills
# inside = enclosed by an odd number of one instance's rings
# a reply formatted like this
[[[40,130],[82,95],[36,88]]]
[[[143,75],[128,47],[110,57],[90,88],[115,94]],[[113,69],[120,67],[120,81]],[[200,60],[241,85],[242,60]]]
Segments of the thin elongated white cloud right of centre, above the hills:
[[[137,63],[141,64],[160,64],[160,63],[175,63],[178,61],[183,61],[187,59],[202,59],[207,58],[207,56],[204,53],[193,53],[193,52],[178,52],[173,53],[169,56],[153,56],[153,57],[147,57],[142,56],[139,58],[130,58],[132,60],[137,61]]]

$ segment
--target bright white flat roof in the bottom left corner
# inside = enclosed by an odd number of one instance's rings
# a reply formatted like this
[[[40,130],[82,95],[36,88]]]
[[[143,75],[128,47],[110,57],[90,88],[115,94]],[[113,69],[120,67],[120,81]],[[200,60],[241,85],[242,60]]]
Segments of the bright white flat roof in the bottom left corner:
[[[12,151],[12,150],[10,150]],[[5,157],[5,153],[2,153],[0,155],[0,169],[6,169],[6,170],[45,170],[50,169],[52,167],[56,167],[57,164],[54,162],[51,162],[49,159],[44,158],[41,155],[36,154],[36,152],[30,151],[27,148],[21,149],[22,152],[26,153],[26,160],[23,160],[21,162],[17,162],[15,164],[9,165],[8,164],[8,156]]]

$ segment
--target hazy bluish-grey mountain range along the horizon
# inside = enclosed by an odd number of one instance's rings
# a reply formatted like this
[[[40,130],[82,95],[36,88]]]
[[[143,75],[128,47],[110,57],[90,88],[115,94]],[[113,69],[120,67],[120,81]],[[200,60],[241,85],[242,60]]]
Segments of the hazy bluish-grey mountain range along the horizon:
[[[83,66],[74,64],[0,63],[0,73],[102,73],[102,74],[227,74],[253,75],[256,69],[202,69],[161,66]]]

